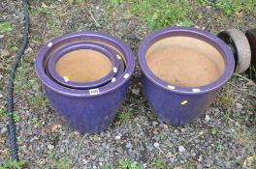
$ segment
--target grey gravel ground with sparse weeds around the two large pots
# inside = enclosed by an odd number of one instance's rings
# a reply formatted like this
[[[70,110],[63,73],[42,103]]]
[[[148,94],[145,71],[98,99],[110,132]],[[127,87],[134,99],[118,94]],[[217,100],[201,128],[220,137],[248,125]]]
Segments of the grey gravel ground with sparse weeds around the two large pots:
[[[17,140],[24,168],[101,168],[104,164],[120,167],[120,159],[137,161],[145,168],[256,166],[256,99],[251,96],[256,88],[243,76],[234,75],[208,111],[193,124],[173,127],[158,122],[149,109],[137,62],[127,99],[111,127],[98,134],[80,134],[67,127],[48,105],[34,73],[33,61],[40,47],[58,35],[94,30],[127,42],[137,60],[140,43],[151,31],[125,4],[112,11],[108,4],[97,0],[81,5],[61,0],[44,2],[30,1],[29,43],[15,81]],[[0,35],[0,161],[10,157],[3,110],[8,71],[22,37],[21,12],[19,1],[0,2],[0,21],[11,22],[13,28]],[[245,30],[255,23],[252,16],[243,16],[238,22],[236,18],[216,18],[218,14],[208,8],[206,17],[195,22],[197,27],[214,33],[231,27]],[[254,165],[249,165],[253,160]]]

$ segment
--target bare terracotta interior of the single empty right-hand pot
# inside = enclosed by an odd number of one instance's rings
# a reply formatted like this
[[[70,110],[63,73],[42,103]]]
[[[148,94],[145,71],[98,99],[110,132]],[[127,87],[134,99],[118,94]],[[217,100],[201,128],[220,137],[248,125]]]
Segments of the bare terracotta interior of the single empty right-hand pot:
[[[225,70],[223,57],[215,47],[190,37],[154,42],[146,51],[146,63],[157,77],[183,87],[207,85]]]

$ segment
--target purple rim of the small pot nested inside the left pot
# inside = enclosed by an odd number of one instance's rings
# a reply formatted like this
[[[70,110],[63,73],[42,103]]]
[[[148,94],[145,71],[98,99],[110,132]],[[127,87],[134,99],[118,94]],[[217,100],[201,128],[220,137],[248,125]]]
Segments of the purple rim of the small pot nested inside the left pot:
[[[65,81],[56,71],[56,64],[65,54],[80,50],[80,49],[91,49],[94,51],[98,51],[105,55],[111,63],[111,70],[102,78],[91,81],[91,82],[75,82],[75,81]],[[103,44],[99,44],[96,42],[74,42],[68,45],[65,45],[58,49],[49,59],[48,59],[48,72],[51,77],[57,81],[59,84],[64,85],[73,89],[91,89],[103,86],[110,82],[112,78],[116,75],[119,70],[120,61],[116,57],[116,52],[113,51],[110,47],[104,46]],[[49,67],[50,66],[50,67]]]

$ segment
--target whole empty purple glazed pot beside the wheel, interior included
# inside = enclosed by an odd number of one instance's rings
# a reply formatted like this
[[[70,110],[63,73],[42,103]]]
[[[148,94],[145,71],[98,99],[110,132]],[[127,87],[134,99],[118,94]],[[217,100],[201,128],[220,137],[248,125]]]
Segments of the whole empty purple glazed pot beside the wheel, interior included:
[[[231,50],[216,36],[173,27],[150,35],[139,50],[143,89],[159,120],[183,126],[208,109],[232,76]]]

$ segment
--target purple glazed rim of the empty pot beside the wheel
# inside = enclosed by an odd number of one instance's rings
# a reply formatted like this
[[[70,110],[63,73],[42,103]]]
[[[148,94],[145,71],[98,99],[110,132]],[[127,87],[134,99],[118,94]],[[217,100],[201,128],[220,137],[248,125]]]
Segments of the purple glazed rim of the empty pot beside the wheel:
[[[200,87],[182,87],[174,84],[170,84],[159,77],[157,77],[147,66],[145,55],[147,49],[157,41],[160,41],[169,37],[190,37],[196,38],[198,40],[208,42],[208,44],[212,45],[214,48],[220,52],[223,57],[225,70],[215,81]],[[196,29],[196,28],[186,28],[186,27],[169,27],[162,29],[160,31],[154,32],[149,37],[147,37],[142,43],[139,49],[139,62],[140,66],[144,72],[146,78],[148,78],[151,82],[160,86],[164,90],[172,91],[178,94],[203,94],[208,93],[214,90],[217,90],[221,86],[223,86],[232,76],[233,71],[235,69],[235,61],[233,58],[233,53],[228,48],[227,44],[220,40],[217,36],[210,34],[209,32]]]

